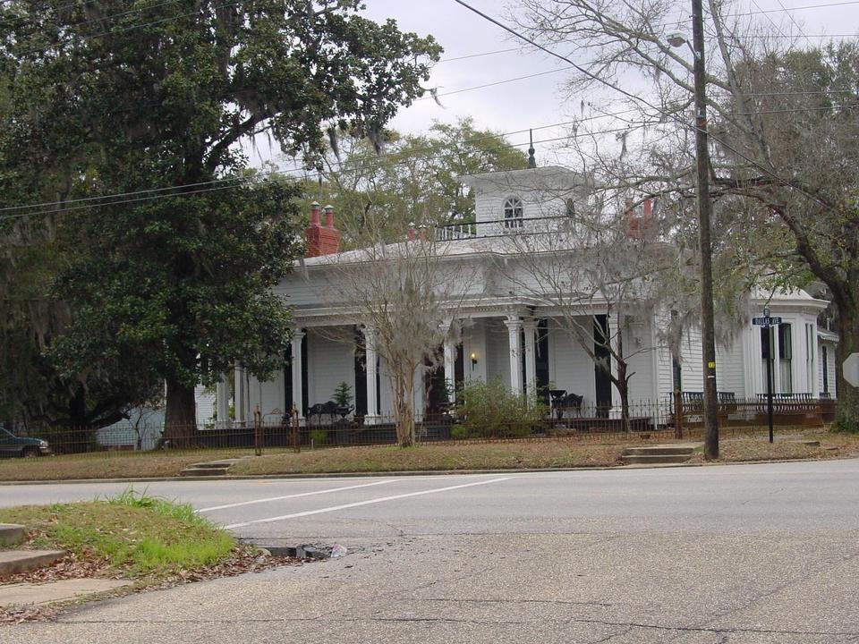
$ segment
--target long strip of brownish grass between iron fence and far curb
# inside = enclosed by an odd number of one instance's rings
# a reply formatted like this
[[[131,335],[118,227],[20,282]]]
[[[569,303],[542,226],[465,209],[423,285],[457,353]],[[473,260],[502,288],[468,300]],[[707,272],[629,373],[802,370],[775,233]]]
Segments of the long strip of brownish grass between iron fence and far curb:
[[[721,460],[767,461],[799,458],[834,458],[859,455],[859,435],[795,428],[796,438],[820,440],[820,448],[783,440],[792,429],[779,429],[774,446],[766,441],[766,428],[725,428]],[[423,444],[409,449],[393,445],[272,452],[234,464],[233,475],[318,474],[325,472],[389,472],[409,470],[523,470],[541,468],[608,467],[620,463],[628,445],[671,442],[668,432],[651,436],[569,436],[553,440],[506,443]],[[701,441],[701,432],[685,442]],[[829,445],[835,449],[828,450]],[[0,460],[0,480],[136,479],[178,476],[196,462],[250,456],[252,450],[223,449],[195,452],[89,453],[38,459]],[[695,460],[702,460],[701,458]],[[693,460],[694,462],[694,460]],[[2,487],[0,487],[2,489]]]

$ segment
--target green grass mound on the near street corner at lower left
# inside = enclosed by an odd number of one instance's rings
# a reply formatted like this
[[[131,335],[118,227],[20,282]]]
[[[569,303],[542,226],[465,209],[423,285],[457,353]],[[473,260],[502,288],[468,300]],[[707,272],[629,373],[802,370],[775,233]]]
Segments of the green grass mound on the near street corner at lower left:
[[[236,546],[188,504],[132,489],[102,501],[0,509],[0,522],[30,529],[31,547],[66,550],[102,563],[100,574],[160,580],[228,559]]]

